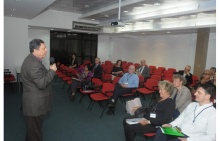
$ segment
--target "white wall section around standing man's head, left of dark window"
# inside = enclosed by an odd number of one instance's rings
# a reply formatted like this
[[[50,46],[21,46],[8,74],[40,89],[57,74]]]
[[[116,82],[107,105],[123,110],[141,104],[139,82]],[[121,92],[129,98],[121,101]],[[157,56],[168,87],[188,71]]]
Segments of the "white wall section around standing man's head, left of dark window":
[[[47,48],[47,55],[42,60],[42,63],[46,68],[49,69],[50,66],[50,31],[44,29],[28,29],[28,41],[31,41],[34,38],[38,38],[44,41]]]

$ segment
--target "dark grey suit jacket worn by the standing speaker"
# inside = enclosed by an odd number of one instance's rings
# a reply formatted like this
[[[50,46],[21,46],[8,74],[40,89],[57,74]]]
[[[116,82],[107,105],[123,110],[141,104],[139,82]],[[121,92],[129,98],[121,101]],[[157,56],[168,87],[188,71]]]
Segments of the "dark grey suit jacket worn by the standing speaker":
[[[33,54],[25,58],[21,67],[24,116],[41,116],[50,110],[54,75],[55,71],[47,70]]]

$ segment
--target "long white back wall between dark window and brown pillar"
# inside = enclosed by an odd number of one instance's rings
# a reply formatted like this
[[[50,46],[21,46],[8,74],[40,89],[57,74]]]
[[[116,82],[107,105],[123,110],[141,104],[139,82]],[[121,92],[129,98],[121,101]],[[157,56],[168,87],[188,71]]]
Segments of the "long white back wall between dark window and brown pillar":
[[[110,42],[109,44],[107,44]],[[194,66],[196,34],[155,35],[144,37],[110,37],[100,35],[98,56],[102,61],[122,59],[148,65],[183,69]],[[111,56],[108,56],[111,54]],[[191,70],[193,72],[193,68]]]

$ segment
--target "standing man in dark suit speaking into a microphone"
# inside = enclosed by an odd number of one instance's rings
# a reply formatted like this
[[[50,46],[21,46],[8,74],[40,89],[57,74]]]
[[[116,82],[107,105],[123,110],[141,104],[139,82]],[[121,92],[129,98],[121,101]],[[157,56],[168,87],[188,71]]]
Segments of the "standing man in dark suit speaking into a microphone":
[[[42,120],[51,106],[51,82],[57,70],[56,64],[47,70],[42,59],[47,54],[44,41],[33,39],[29,43],[30,54],[21,67],[23,82],[22,110],[26,120],[26,141],[42,141]]]

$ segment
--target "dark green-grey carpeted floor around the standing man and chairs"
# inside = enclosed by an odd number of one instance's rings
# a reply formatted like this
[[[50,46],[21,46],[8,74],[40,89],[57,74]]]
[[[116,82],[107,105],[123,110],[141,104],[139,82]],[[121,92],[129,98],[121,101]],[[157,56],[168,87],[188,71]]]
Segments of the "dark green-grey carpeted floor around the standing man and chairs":
[[[13,87],[5,86],[4,89],[4,140],[24,141],[26,127],[20,111],[22,94],[18,93],[16,83]],[[100,119],[102,108],[97,103],[89,111],[88,97],[80,104],[81,95],[77,93],[76,99],[70,101],[67,86],[61,87],[59,80],[53,83],[52,110],[43,121],[44,141],[125,141],[122,119],[128,114],[124,103],[118,101],[115,115],[104,114]],[[147,105],[148,100],[142,104]],[[146,141],[146,138],[136,135],[135,141]]]

